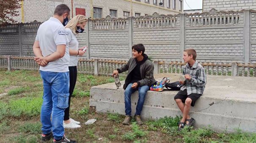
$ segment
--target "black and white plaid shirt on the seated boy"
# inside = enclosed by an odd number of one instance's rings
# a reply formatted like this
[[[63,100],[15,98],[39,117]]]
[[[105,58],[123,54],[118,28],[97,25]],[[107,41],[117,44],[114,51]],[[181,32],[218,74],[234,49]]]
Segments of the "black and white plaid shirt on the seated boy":
[[[183,75],[189,74],[191,79],[186,79],[181,90],[187,89],[187,95],[191,93],[203,94],[206,85],[206,74],[204,67],[195,61],[195,64],[190,68],[187,63],[183,70]]]

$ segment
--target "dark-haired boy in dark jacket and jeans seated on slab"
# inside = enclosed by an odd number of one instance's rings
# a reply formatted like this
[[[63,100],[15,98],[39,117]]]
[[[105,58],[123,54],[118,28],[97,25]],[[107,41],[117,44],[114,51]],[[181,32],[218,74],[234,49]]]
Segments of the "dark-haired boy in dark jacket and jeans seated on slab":
[[[149,61],[148,56],[144,54],[145,47],[143,44],[137,44],[132,46],[132,58],[128,63],[113,71],[112,76],[116,76],[118,73],[122,73],[128,70],[127,77],[124,83],[124,101],[125,101],[125,114],[123,124],[129,124],[132,119],[131,109],[131,95],[136,90],[139,91],[139,99],[136,106],[135,120],[137,124],[143,124],[140,119],[140,113],[143,108],[144,100],[149,87],[154,84],[155,79],[153,76],[154,65]]]

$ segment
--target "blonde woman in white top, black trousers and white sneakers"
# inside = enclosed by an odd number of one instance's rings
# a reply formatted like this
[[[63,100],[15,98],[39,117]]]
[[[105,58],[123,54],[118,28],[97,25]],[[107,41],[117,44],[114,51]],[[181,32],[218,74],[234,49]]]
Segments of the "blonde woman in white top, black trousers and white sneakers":
[[[85,25],[87,24],[87,19],[83,15],[77,15],[72,18],[69,23],[65,26],[66,28],[66,35],[69,39],[69,107],[71,96],[74,91],[74,87],[77,81],[77,63],[78,63],[78,56],[83,56],[85,53],[84,47],[78,48],[78,41],[76,35],[78,33],[82,33],[85,29]],[[68,129],[75,129],[80,128],[80,122],[75,121],[72,118],[69,118],[69,107],[64,111],[64,121],[63,126],[64,128]]]

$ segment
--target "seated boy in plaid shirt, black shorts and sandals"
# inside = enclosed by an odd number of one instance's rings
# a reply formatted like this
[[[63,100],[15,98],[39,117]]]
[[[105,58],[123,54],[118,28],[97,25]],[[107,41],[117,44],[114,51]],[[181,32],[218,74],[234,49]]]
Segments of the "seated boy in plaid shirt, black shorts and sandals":
[[[179,130],[185,125],[191,126],[195,119],[189,116],[190,107],[195,105],[195,101],[203,94],[206,85],[206,74],[201,64],[195,61],[196,52],[194,49],[186,49],[183,52],[183,60],[187,63],[184,66],[183,75],[186,80],[180,81],[181,87],[174,99],[182,111],[183,116],[179,122]],[[185,104],[183,104],[185,103]]]

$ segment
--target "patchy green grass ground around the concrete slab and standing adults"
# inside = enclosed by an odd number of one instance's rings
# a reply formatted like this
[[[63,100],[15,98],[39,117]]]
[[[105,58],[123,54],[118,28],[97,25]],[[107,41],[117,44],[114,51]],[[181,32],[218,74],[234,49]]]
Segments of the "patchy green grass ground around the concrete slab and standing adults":
[[[125,77],[121,76],[120,79],[124,80]],[[135,124],[132,119],[131,125],[124,126],[121,124],[123,115],[113,114],[112,111],[112,114],[103,114],[89,110],[90,88],[109,82],[114,82],[113,77],[77,75],[70,116],[81,123],[88,119],[97,121],[91,125],[81,124],[82,127],[77,130],[66,130],[68,138],[76,139],[79,143],[256,143],[256,133],[241,130],[227,133],[213,132],[211,127],[196,130],[185,127],[178,132],[177,123],[180,117],[146,121],[142,126]],[[0,98],[0,142],[38,143],[41,134],[40,111],[43,95],[39,72],[7,72],[0,69],[0,92],[8,93]]]

